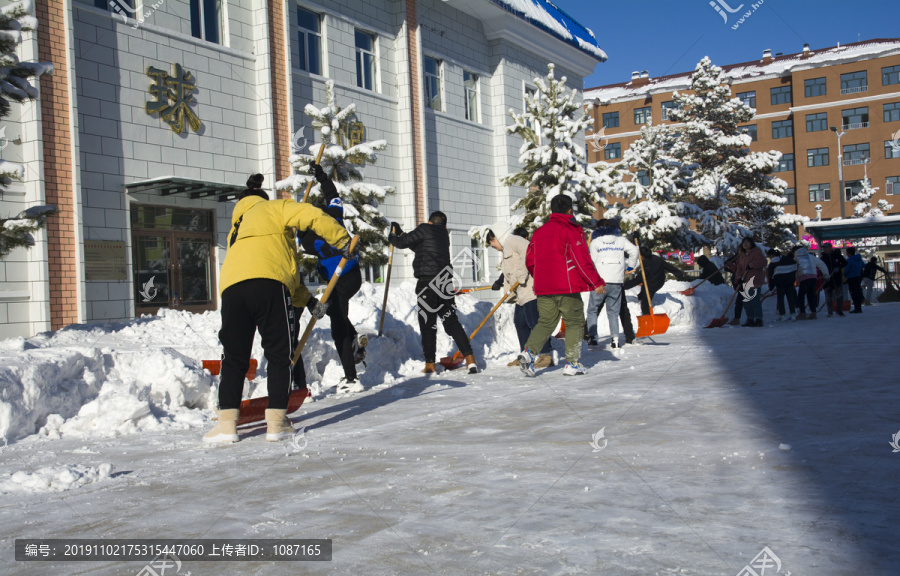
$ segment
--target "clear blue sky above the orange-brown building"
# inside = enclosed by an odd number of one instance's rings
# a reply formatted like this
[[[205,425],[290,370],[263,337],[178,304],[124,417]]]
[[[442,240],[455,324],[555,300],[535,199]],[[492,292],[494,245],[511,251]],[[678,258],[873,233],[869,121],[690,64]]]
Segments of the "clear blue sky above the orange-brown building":
[[[634,70],[652,78],[686,72],[704,56],[724,66],[772,54],[900,37],[897,0],[763,0],[754,11],[749,0],[721,0],[738,12],[722,13],[710,0],[551,0],[590,28],[609,60],[585,78],[584,87],[626,82]],[[722,5],[720,4],[720,8]],[[734,30],[746,12],[752,15]]]

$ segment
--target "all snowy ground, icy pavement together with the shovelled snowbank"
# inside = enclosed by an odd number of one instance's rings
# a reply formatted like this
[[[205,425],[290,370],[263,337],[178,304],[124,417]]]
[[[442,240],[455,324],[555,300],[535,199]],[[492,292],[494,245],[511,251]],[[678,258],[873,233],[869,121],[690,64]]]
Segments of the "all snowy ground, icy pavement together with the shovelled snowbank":
[[[327,322],[314,332],[314,401],[284,443],[261,427],[200,442],[217,314],[2,341],[0,573],[146,564],[15,562],[16,538],[333,540],[328,563],[185,563],[195,576],[733,576],[764,547],[779,574],[900,573],[900,305],[776,323],[769,299],[765,328],[704,330],[731,291],[685,286],[657,296],[672,327],[655,342],[586,350],[584,377],[534,379],[506,367],[509,306],[475,339],[483,373],[421,376],[415,295],[393,287],[366,392],[335,395]],[[354,300],[360,331],[374,335],[380,302],[369,285]],[[490,305],[460,308],[471,330]],[[260,374],[249,393],[264,393],[264,362]]]

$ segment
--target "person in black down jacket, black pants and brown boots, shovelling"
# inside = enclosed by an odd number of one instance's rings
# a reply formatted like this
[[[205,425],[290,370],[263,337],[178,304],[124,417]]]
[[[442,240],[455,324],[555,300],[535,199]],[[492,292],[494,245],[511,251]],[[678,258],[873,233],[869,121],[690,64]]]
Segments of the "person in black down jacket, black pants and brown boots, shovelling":
[[[416,277],[416,294],[419,305],[419,331],[422,333],[422,351],[425,354],[424,373],[435,372],[437,347],[437,320],[441,319],[444,331],[456,342],[466,359],[470,374],[478,371],[472,344],[456,316],[453,266],[450,262],[450,232],[447,216],[432,212],[428,222],[420,224],[406,234],[396,222],[391,222],[388,241],[397,248],[409,248],[415,252],[413,275]]]

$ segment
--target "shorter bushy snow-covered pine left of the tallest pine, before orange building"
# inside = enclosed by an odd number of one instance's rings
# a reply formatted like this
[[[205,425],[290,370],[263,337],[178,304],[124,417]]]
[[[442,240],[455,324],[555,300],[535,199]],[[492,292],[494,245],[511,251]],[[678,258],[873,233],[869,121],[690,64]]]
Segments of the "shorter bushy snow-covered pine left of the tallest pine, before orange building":
[[[691,220],[701,213],[687,197],[693,166],[666,154],[673,138],[677,135],[671,128],[643,126],[641,137],[631,143],[620,162],[601,162],[597,171],[607,193],[624,201],[613,204],[605,213],[607,218],[619,219],[623,231],[635,234],[641,246],[691,251],[705,245],[706,239],[691,229]]]

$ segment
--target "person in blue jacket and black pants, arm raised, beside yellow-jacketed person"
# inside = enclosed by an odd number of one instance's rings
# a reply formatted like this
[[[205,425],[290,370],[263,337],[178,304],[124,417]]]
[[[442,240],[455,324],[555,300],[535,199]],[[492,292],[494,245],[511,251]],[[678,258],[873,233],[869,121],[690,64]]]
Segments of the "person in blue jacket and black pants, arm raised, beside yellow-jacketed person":
[[[325,206],[322,209],[326,214],[337,220],[338,224],[344,226],[344,203],[340,195],[338,195],[334,182],[328,177],[322,166],[315,162],[310,163],[310,172],[315,176],[316,181],[322,188],[322,195],[325,200]],[[297,241],[304,252],[319,259],[319,276],[325,282],[331,280],[335,269],[341,258],[343,258],[341,251],[328,244],[312,230],[299,233]],[[360,286],[362,286],[362,274],[360,273],[359,257],[357,256],[347,261],[328,299],[327,314],[331,319],[331,337],[337,348],[341,367],[344,369],[344,377],[341,378],[337,386],[338,393],[355,394],[365,389],[357,378],[356,364],[365,357],[365,346],[368,344],[368,338],[365,335],[359,336],[357,334],[356,328],[353,327],[349,318],[350,299],[359,292]]]

